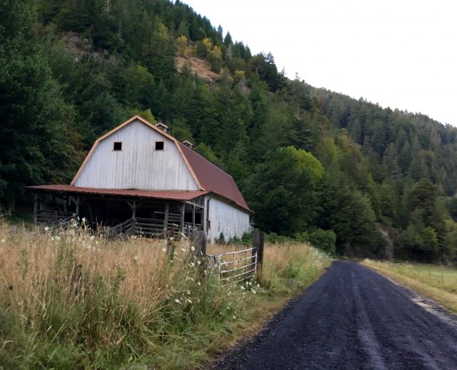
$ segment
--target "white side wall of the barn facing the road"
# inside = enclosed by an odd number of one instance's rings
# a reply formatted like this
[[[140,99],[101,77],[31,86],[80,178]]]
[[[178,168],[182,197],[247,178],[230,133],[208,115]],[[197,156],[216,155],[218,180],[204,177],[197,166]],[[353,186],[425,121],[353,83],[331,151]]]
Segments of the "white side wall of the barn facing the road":
[[[209,197],[206,198],[208,202]],[[211,229],[207,230],[207,236],[212,241],[218,239],[221,232],[224,232],[227,241],[233,236],[242,237],[244,232],[249,231],[248,213],[214,195],[209,200],[209,220]]]

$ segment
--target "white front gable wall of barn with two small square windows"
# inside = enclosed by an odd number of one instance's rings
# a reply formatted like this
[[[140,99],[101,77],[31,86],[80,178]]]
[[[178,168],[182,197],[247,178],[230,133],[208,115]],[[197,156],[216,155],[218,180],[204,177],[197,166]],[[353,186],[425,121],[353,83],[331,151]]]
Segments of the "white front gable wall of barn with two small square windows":
[[[113,143],[122,142],[114,151]],[[164,141],[165,150],[154,150]],[[134,121],[101,140],[74,183],[82,187],[142,190],[199,190],[175,143]]]

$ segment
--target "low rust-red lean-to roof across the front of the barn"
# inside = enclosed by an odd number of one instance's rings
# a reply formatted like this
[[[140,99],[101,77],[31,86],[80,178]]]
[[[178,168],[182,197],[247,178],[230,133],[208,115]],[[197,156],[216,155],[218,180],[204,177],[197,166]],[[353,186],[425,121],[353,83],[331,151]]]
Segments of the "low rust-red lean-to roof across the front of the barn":
[[[29,189],[45,192],[72,192],[76,194],[115,195],[124,197],[141,197],[164,200],[191,200],[208,192],[204,190],[136,190],[136,189],[96,189],[73,185],[38,185],[28,186]]]

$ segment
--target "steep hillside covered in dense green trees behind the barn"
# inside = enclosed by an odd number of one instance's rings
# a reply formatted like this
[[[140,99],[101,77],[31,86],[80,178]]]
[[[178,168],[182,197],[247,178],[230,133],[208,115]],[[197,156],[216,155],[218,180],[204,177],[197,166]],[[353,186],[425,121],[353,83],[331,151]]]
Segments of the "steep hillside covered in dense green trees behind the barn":
[[[69,183],[96,137],[140,114],[231,173],[272,235],[456,260],[455,128],[290,80],[180,1],[4,0],[0,14],[2,207]],[[191,56],[218,81],[176,69]]]

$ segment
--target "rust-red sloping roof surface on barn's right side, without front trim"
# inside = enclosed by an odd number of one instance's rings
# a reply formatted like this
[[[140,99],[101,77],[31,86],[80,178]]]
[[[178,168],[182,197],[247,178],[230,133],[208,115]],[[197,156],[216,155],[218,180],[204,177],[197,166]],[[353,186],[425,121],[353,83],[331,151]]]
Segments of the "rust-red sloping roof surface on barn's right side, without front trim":
[[[251,211],[231,175],[225,173],[224,170],[221,170],[221,168],[178,140],[176,140],[176,144],[179,145],[181,153],[186,157],[187,162],[194,171],[196,180],[204,190],[221,195],[245,210]]]

